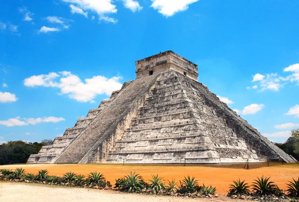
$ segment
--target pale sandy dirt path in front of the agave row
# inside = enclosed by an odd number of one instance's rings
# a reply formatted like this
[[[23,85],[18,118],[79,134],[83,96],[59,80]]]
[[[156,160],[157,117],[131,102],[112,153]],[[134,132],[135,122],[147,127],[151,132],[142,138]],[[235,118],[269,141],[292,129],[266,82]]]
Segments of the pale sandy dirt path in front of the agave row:
[[[53,187],[29,183],[0,183],[1,202],[240,202],[224,196],[219,198],[190,199],[152,195],[126,194],[116,191],[86,188]]]

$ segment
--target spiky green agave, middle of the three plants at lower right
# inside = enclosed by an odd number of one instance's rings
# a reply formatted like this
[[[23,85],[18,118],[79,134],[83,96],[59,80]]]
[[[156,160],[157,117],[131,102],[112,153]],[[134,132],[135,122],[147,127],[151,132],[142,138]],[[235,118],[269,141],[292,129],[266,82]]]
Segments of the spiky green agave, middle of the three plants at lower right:
[[[274,182],[269,181],[269,179],[270,177],[264,178],[264,176],[262,176],[261,179],[258,177],[252,185],[252,191],[257,195],[275,194],[277,186]]]

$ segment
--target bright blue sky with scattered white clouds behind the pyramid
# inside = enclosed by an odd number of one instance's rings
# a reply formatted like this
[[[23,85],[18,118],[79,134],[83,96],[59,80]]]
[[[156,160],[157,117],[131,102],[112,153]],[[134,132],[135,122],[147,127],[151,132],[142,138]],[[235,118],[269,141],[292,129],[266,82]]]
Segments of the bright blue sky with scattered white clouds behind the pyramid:
[[[62,135],[166,50],[268,139],[299,127],[298,0],[0,2],[0,143]]]

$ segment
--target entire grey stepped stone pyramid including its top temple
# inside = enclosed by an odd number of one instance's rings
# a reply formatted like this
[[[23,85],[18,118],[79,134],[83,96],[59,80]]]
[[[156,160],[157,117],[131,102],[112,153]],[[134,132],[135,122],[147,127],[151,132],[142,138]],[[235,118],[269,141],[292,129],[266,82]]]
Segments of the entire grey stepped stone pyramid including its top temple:
[[[208,88],[172,51],[136,61],[137,78],[27,163],[222,163],[296,160]]]

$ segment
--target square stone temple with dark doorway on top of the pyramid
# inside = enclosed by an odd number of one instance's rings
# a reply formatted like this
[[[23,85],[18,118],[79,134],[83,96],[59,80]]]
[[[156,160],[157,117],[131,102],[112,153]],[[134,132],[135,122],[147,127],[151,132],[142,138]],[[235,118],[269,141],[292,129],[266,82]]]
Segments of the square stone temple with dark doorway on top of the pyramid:
[[[137,78],[146,77],[165,70],[175,70],[197,81],[197,69],[196,64],[171,50],[136,61]]]

